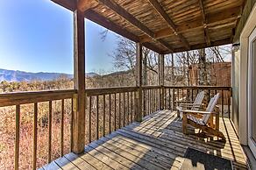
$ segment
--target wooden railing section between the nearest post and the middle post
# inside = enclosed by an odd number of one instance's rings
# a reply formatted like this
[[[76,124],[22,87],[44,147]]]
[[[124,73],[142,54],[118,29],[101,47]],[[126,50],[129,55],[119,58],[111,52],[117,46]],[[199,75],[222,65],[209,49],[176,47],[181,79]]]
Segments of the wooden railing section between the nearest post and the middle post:
[[[88,128],[86,143],[131,124],[135,120],[137,91],[137,87],[86,89],[89,115],[86,121],[86,128]]]

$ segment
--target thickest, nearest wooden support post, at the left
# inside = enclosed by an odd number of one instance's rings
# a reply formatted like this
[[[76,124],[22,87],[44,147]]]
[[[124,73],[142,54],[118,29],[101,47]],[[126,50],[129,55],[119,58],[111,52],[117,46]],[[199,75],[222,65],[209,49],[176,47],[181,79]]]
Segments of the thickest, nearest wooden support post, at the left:
[[[85,135],[85,32],[84,13],[74,11],[74,117],[72,152],[81,153]]]

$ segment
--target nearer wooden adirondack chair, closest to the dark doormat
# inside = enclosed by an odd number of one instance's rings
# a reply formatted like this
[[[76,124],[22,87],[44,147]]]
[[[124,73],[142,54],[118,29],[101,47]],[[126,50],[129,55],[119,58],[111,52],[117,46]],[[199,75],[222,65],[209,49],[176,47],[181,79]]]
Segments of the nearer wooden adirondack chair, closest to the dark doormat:
[[[219,98],[219,93],[210,99],[210,103],[205,111],[198,110],[182,110],[183,119],[182,119],[182,129],[183,133],[187,134],[187,125],[190,124],[202,132],[209,133],[210,135],[217,136],[225,140],[224,134],[221,131],[218,131],[218,117],[219,110],[214,112],[216,108],[217,100]],[[198,115],[203,115],[199,118]],[[216,127],[213,127],[212,117],[216,116]]]

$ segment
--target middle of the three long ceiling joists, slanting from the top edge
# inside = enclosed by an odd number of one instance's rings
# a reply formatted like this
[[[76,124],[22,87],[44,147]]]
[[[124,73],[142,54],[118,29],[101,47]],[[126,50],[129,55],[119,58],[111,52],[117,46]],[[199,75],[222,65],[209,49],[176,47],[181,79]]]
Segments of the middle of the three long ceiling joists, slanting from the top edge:
[[[174,21],[168,16],[167,12],[162,8],[162,6],[158,3],[157,0],[148,0],[150,4],[152,4],[155,11],[157,11],[162,18],[167,22],[169,27],[173,30],[174,34],[181,39],[182,44],[189,50],[190,46],[187,41],[187,39],[184,38],[184,36],[181,34],[181,32],[178,32],[176,25],[174,25]]]

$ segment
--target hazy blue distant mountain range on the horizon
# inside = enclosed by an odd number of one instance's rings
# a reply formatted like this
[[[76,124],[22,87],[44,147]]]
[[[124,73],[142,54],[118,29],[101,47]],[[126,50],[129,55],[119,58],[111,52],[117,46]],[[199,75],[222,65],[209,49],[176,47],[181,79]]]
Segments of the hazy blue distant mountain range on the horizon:
[[[98,74],[87,73],[87,77],[93,77]],[[61,73],[30,73],[24,71],[7,70],[0,68],[0,82],[1,81],[52,81],[60,78],[60,76],[67,76],[72,79],[73,74],[61,74]]]

